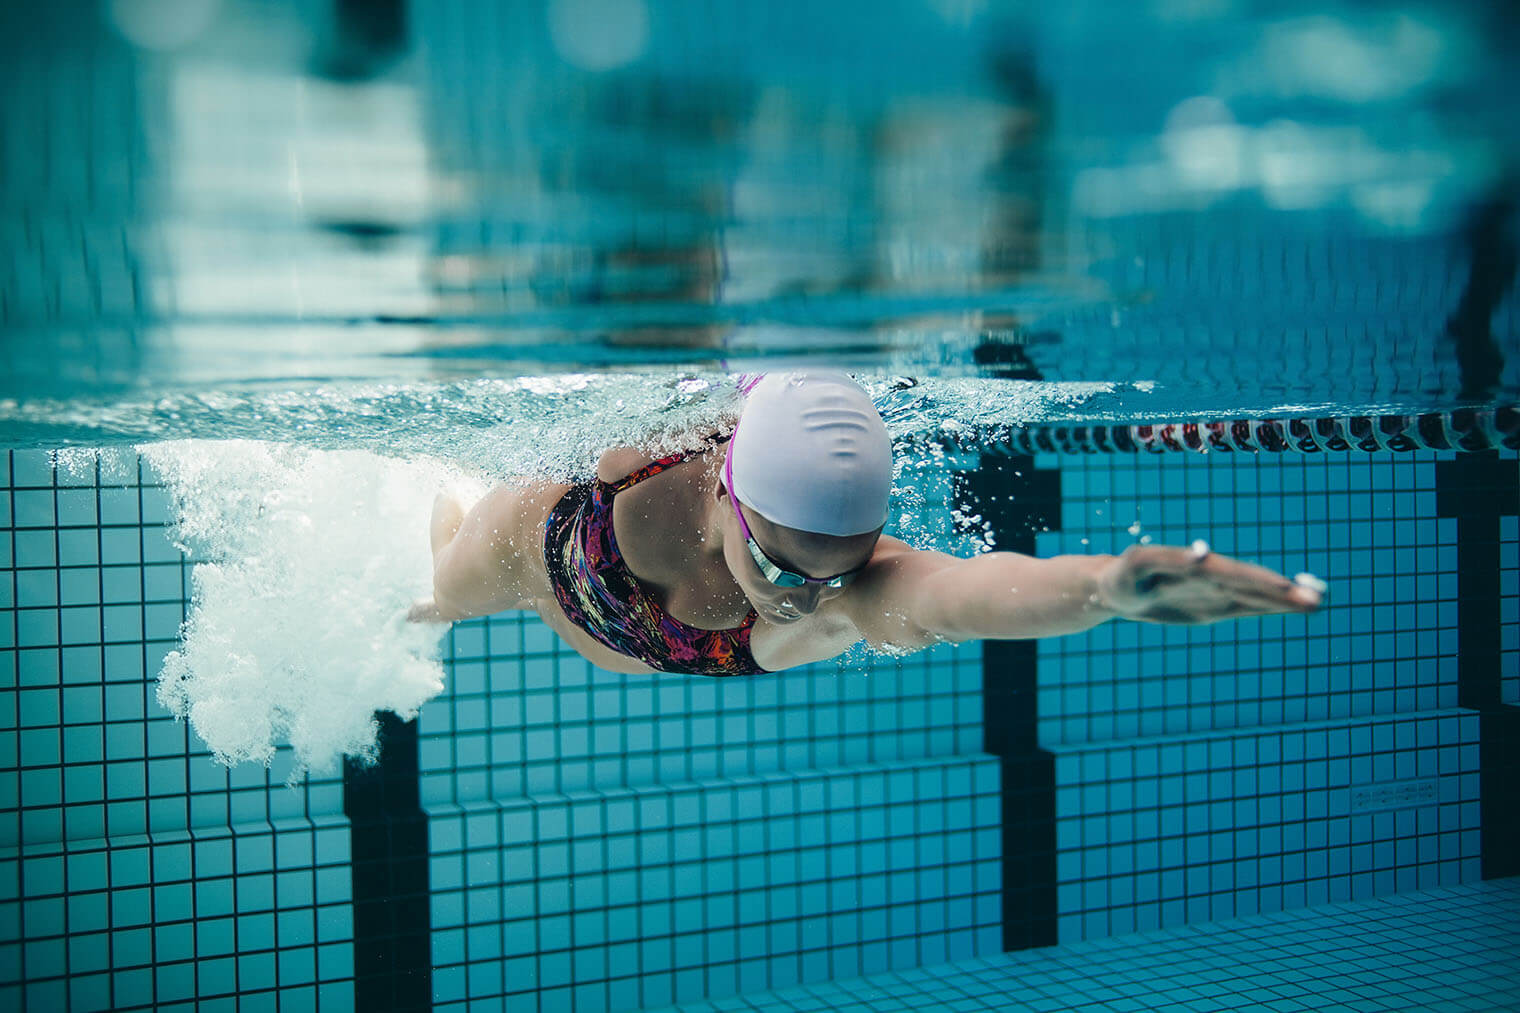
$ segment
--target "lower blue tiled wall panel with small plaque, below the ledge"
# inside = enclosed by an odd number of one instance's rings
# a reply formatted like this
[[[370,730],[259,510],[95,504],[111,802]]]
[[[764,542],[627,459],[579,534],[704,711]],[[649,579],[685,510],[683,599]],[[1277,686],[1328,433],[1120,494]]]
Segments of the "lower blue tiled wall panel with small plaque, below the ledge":
[[[1479,879],[1477,750],[1468,710],[1058,747],[1061,942]]]

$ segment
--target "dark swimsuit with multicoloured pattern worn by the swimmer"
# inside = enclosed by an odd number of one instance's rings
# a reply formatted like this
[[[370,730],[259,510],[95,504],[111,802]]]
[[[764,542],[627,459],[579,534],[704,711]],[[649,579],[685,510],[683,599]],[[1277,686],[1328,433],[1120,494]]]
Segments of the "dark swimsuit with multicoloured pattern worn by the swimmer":
[[[661,458],[616,484],[584,482],[565,493],[544,531],[544,560],[565,616],[619,654],[661,672],[758,675],[749,653],[751,610],[733,630],[699,630],[672,618],[623,563],[613,532],[613,499],[629,485],[679,464]]]

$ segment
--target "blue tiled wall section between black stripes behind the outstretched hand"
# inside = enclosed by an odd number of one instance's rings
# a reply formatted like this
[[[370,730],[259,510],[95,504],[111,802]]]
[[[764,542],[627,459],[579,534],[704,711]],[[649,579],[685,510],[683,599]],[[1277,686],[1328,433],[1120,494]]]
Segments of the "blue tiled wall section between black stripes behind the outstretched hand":
[[[1040,462],[1062,481],[1043,555],[1202,537],[1330,583],[1307,618],[1041,642],[1061,942],[1480,876],[1477,719],[1455,710],[1456,522],[1435,516],[1438,459]]]

